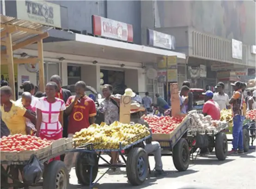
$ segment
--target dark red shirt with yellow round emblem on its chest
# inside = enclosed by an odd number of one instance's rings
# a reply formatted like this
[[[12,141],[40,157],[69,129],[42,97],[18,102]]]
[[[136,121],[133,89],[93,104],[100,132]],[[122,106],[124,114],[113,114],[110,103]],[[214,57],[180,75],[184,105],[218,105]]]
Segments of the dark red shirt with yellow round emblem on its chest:
[[[70,96],[67,99],[66,106],[69,106],[75,99],[75,96]],[[71,114],[69,115],[67,132],[74,134],[81,129],[90,126],[89,117],[96,116],[96,107],[94,101],[87,96],[82,97],[74,104]]]

